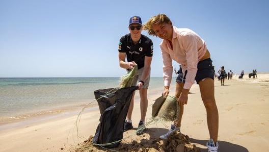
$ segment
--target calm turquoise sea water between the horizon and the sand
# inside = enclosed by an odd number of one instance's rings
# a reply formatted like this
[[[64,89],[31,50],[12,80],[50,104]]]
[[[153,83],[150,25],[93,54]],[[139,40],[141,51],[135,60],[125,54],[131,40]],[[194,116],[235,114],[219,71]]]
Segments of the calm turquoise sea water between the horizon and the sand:
[[[0,122],[81,108],[94,102],[95,90],[115,88],[119,82],[120,78],[0,78]],[[160,88],[163,78],[151,78],[149,92]]]

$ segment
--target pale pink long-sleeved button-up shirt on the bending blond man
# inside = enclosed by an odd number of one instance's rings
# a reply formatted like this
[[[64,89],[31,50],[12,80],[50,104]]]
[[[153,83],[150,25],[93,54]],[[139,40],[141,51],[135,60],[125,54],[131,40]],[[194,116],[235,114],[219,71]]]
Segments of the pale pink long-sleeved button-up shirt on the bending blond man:
[[[172,60],[181,64],[183,72],[187,70],[184,89],[191,89],[195,82],[197,64],[206,53],[205,41],[190,29],[173,27],[172,45],[168,40],[160,43],[163,55],[163,77],[165,86],[170,86],[172,80]],[[173,49],[172,49],[173,48]]]

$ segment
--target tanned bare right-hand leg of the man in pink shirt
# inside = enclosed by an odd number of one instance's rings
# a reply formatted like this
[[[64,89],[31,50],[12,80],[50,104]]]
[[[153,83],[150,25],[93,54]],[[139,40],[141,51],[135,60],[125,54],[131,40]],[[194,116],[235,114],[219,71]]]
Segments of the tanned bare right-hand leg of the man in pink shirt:
[[[214,97],[214,80],[206,78],[199,82],[201,97],[206,109],[207,126],[210,138],[218,141],[219,112]]]

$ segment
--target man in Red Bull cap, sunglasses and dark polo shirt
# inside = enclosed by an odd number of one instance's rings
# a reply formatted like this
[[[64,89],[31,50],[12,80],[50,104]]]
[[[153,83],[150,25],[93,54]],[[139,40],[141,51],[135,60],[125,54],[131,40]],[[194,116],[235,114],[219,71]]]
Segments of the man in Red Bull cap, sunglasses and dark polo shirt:
[[[130,72],[135,65],[138,65],[138,70],[133,79],[132,85],[138,85],[139,87],[141,118],[138,126],[141,126],[141,129],[137,131],[137,135],[142,135],[146,129],[145,117],[148,108],[147,91],[150,81],[150,65],[153,55],[153,43],[151,39],[141,34],[142,20],[139,16],[132,16],[130,18],[128,29],[130,33],[122,36],[119,42],[119,64],[120,67],[127,70],[127,73]],[[125,59],[127,59],[127,62]],[[124,131],[133,128],[131,122],[133,96],[124,123]]]

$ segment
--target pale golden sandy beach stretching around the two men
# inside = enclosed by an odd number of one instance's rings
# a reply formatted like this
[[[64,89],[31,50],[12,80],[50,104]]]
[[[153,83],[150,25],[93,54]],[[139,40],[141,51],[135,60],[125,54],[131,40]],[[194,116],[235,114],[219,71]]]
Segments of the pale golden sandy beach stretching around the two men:
[[[215,80],[220,117],[219,148],[222,152],[269,151],[269,73],[257,73],[257,76],[257,79],[252,79],[245,74],[243,79],[238,79],[237,75],[233,80],[225,80],[225,86]],[[174,87],[175,83],[172,83],[170,95],[174,95]],[[148,90],[147,121],[151,118],[151,106],[162,91],[163,88],[154,92]],[[184,107],[181,132],[205,152],[209,133],[199,85],[193,85],[191,92]],[[140,119],[138,92],[135,100],[132,121],[137,128]],[[75,151],[83,146],[89,136],[94,136],[100,117],[98,107],[86,108],[78,118],[79,112],[50,114],[1,124],[0,151]],[[137,136],[135,130],[127,131],[124,142],[155,140],[166,133],[170,125],[171,122],[151,124],[143,136]]]

